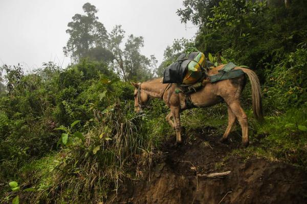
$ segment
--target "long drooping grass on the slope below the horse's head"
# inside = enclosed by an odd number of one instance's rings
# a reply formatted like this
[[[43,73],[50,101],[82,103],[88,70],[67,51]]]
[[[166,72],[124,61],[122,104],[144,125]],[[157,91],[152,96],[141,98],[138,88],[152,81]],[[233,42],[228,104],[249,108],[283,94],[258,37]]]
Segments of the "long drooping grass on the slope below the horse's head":
[[[31,202],[101,202],[117,193],[125,179],[138,179],[155,159],[155,150],[169,130],[164,115],[137,115],[132,103],[117,103],[84,123],[91,128],[85,140],[73,138],[67,147],[53,155],[24,166],[21,188]],[[158,111],[159,112],[159,111]],[[159,122],[160,121],[160,122]],[[161,125],[162,124],[162,125]],[[83,127],[84,128],[84,127]],[[15,193],[9,194],[10,196]]]

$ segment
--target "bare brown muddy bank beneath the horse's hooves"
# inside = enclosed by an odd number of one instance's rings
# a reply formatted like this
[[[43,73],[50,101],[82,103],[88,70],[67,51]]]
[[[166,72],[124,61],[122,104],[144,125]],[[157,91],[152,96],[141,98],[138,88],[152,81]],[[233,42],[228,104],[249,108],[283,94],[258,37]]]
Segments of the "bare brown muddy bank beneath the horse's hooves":
[[[307,203],[306,172],[256,157],[225,159],[239,148],[240,136],[234,133],[221,144],[214,132],[214,127],[193,130],[180,146],[173,137],[150,172],[126,181],[107,203]]]

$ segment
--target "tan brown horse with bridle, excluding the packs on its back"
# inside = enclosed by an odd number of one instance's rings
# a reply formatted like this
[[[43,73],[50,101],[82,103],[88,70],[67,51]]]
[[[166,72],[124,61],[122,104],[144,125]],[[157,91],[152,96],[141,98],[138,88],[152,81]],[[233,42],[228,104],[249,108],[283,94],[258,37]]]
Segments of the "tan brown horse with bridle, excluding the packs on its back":
[[[208,70],[208,75],[218,73],[225,65],[220,65]],[[256,73],[250,69],[243,67],[235,67],[241,69],[248,76],[252,88],[253,112],[257,119],[262,118],[261,107],[261,90],[259,79]],[[175,93],[176,84],[162,84],[162,79],[155,79],[143,83],[131,83],[135,86],[135,111],[140,112],[150,97],[161,98],[170,108],[170,113],[166,116],[166,120],[176,130],[176,141],[182,142],[180,112],[187,109],[186,96],[183,93]],[[242,128],[242,145],[249,145],[248,122],[247,116],[240,105],[240,94],[246,84],[246,76],[224,80],[216,83],[207,83],[201,90],[191,93],[190,100],[195,107],[209,107],[221,103],[223,100],[228,107],[228,126],[221,138],[221,142],[228,139],[228,135],[232,129],[235,119],[238,120]],[[173,121],[171,120],[173,118]]]

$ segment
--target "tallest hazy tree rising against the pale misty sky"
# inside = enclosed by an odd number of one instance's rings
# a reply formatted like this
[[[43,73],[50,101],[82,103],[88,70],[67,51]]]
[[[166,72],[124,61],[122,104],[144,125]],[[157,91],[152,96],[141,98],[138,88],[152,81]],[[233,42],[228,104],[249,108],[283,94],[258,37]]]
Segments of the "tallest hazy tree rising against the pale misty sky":
[[[66,33],[70,35],[67,45],[63,47],[66,56],[71,56],[77,62],[83,57],[89,57],[93,48],[106,46],[107,32],[104,25],[98,21],[97,9],[94,5],[83,5],[86,15],[75,14],[73,21],[68,23]]]

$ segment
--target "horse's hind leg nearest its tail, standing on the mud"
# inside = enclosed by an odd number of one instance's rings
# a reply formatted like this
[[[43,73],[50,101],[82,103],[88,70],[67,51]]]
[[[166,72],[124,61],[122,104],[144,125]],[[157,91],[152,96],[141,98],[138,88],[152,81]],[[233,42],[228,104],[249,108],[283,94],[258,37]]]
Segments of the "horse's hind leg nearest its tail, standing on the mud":
[[[237,117],[241,129],[242,129],[242,145],[248,146],[249,145],[249,138],[248,138],[248,123],[247,123],[247,116],[240,105],[239,100],[234,100],[232,103],[229,104],[231,111]]]

